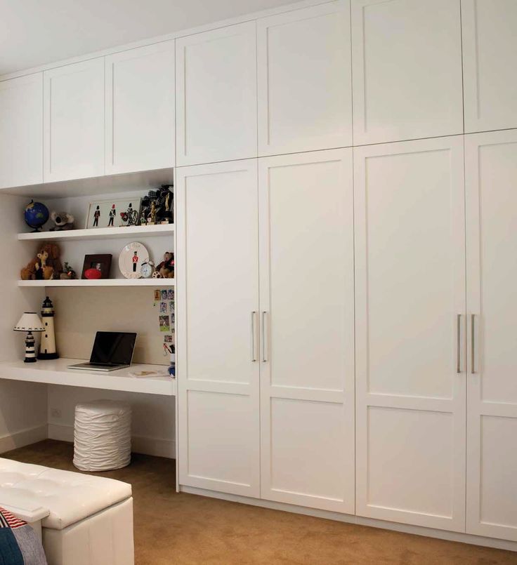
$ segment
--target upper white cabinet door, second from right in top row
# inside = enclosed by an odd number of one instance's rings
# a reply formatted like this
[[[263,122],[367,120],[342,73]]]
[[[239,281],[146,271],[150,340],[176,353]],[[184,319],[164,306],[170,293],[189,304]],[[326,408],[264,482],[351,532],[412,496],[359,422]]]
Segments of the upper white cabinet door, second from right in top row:
[[[355,145],[463,132],[459,0],[351,0]]]

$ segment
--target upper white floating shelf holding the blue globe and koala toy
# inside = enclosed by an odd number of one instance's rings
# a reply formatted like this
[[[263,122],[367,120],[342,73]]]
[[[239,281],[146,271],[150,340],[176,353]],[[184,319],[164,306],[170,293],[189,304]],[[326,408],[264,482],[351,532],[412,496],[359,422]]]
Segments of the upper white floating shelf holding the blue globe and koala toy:
[[[174,224],[136,225],[131,227],[98,227],[90,230],[35,232],[18,234],[20,241],[89,241],[93,239],[128,239],[159,237],[174,234]]]

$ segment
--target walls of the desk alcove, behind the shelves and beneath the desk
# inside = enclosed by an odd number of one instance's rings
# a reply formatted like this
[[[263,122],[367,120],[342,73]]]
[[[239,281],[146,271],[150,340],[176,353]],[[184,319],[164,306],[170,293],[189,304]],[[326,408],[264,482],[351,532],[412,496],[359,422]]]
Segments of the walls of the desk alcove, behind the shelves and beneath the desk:
[[[143,196],[145,193],[146,189],[142,189],[138,194]],[[121,197],[124,195],[117,194],[117,198]],[[77,226],[84,227],[88,203],[94,199],[77,197],[45,201],[45,204],[51,210],[71,211],[77,215]],[[0,230],[4,238],[9,238],[4,240],[4,277],[0,277],[4,306],[4,315],[0,317],[0,361],[11,361],[13,357],[22,359],[25,333],[14,332],[13,326],[22,312],[39,312],[45,297],[44,289],[16,286],[21,267],[34,257],[38,247],[37,244],[20,242],[15,236],[18,232],[30,231],[23,221],[23,209],[29,200],[0,195]],[[47,224],[45,229],[50,226]],[[115,276],[118,253],[129,241],[113,240],[110,249],[106,248],[105,241],[61,245],[62,260],[69,260],[80,272],[86,253],[112,253],[112,276]],[[174,248],[174,241],[169,237],[142,239],[142,242],[148,244],[157,262],[164,251]],[[98,330],[136,331],[134,361],[168,364],[169,359],[163,354],[163,334],[159,331],[159,307],[153,307],[154,288],[48,288],[48,295],[56,308],[56,340],[61,357],[88,358]],[[103,315],[99,316],[98,312]],[[0,453],[46,437],[73,441],[75,405],[99,398],[123,399],[131,404],[133,451],[175,456],[173,397],[8,380],[0,380]]]

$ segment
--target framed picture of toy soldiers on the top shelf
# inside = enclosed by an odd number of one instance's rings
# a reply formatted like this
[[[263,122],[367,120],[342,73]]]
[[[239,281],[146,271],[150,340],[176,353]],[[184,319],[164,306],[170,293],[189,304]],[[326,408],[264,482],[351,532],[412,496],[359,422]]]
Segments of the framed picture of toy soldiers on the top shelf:
[[[88,205],[84,227],[96,230],[100,227],[138,225],[141,206],[140,197],[92,201]]]

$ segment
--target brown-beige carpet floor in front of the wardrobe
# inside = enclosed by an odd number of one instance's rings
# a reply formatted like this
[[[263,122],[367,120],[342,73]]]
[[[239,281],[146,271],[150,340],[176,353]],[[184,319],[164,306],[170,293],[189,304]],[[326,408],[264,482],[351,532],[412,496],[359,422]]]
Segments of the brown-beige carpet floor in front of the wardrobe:
[[[2,457],[75,470],[72,453],[48,439]],[[134,455],[102,475],[133,485],[136,565],[517,565],[513,552],[177,494],[169,459]]]

